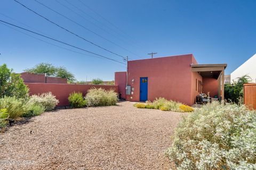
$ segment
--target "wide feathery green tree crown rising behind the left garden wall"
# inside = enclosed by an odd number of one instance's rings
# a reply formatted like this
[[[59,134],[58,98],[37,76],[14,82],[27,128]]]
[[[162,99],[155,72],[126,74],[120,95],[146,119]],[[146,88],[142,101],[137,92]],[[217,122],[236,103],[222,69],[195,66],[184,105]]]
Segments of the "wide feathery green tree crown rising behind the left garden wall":
[[[74,74],[69,72],[66,67],[56,67],[49,63],[39,63],[30,69],[25,69],[24,71],[36,74],[46,73],[47,76],[66,78],[69,82],[74,82],[76,80]]]

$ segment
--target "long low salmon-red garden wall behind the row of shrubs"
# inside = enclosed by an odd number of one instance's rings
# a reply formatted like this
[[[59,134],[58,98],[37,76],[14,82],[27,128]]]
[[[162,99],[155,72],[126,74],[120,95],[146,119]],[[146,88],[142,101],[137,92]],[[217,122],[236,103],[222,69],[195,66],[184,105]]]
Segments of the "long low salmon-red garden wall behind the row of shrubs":
[[[38,95],[44,92],[51,91],[54,96],[60,101],[58,106],[68,106],[68,96],[72,92],[82,92],[86,95],[87,90],[95,88],[103,88],[106,90],[114,89],[118,92],[117,86],[107,85],[86,85],[86,84],[45,84],[45,83],[25,83],[29,88],[29,95]]]

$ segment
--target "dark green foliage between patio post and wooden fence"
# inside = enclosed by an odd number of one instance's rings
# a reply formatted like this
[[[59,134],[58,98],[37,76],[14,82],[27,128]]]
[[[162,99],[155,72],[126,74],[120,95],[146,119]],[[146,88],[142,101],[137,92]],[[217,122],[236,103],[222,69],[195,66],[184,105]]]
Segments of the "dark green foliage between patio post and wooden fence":
[[[233,84],[225,84],[225,99],[234,103],[241,103],[244,97],[244,84],[251,82],[251,77],[244,75],[234,81]]]

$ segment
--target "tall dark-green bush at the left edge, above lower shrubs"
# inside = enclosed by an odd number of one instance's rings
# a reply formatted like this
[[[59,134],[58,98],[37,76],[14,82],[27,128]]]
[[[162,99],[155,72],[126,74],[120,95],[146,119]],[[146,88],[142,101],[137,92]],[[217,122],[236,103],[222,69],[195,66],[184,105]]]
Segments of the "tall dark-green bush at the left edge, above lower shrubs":
[[[0,65],[0,98],[4,96],[23,99],[28,97],[28,88],[20,78],[20,74],[13,73],[6,64]]]

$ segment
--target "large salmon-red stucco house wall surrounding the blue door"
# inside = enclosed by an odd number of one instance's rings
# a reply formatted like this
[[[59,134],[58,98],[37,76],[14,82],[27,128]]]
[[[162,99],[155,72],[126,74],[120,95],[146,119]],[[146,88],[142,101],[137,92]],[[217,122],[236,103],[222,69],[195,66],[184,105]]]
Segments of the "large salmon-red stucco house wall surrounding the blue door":
[[[140,100],[140,78],[148,77],[148,100],[164,97],[191,105],[190,64],[196,62],[193,58],[188,54],[129,61],[128,84],[134,88],[134,94],[126,95],[126,100]]]

